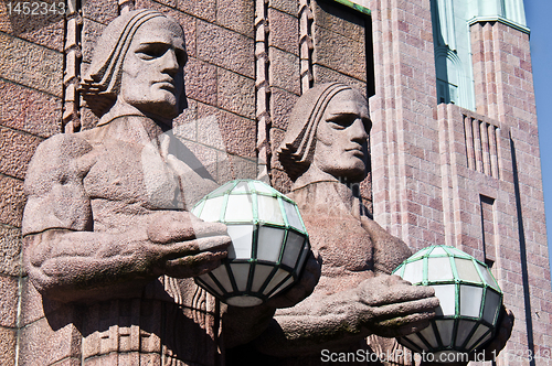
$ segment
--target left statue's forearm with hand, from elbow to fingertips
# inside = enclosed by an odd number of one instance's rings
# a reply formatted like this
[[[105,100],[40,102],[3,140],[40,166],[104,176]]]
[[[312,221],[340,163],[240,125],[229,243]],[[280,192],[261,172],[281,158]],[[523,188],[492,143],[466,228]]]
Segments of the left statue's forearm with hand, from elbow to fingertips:
[[[203,274],[220,266],[231,243],[225,225],[181,211],[156,212],[123,233],[52,228],[25,240],[31,280],[62,301],[136,295],[142,280]]]

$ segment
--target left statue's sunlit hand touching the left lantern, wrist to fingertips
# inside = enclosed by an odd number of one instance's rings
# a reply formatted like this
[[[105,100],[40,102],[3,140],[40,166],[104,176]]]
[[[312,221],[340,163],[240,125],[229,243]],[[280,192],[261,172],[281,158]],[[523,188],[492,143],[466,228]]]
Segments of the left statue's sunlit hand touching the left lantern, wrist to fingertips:
[[[221,265],[231,244],[226,225],[206,223],[188,212],[152,215],[144,247],[155,276],[195,277]]]

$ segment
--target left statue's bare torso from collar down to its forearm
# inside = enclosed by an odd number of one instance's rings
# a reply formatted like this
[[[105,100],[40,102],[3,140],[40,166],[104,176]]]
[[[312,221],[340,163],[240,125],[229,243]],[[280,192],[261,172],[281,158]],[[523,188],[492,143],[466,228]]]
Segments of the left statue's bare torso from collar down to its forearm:
[[[183,208],[177,174],[159,153],[148,150],[116,140],[93,148],[94,164],[83,185],[95,232],[123,233],[155,211]]]

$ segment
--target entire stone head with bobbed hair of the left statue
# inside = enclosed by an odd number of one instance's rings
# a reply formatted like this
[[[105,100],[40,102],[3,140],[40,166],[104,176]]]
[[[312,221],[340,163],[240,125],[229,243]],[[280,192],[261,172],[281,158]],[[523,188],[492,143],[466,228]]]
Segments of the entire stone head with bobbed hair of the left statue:
[[[99,37],[82,82],[83,97],[99,117],[118,101],[172,119],[187,107],[187,58],[177,21],[152,10],[127,12]]]

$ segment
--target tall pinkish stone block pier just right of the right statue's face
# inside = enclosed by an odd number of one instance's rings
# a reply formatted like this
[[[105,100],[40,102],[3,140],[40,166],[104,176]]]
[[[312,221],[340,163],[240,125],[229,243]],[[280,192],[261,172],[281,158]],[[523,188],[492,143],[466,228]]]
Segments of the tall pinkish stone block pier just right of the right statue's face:
[[[414,249],[444,244],[436,79],[428,1],[369,1],[374,219]]]

